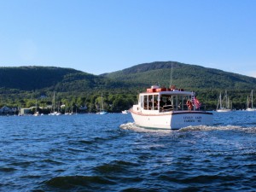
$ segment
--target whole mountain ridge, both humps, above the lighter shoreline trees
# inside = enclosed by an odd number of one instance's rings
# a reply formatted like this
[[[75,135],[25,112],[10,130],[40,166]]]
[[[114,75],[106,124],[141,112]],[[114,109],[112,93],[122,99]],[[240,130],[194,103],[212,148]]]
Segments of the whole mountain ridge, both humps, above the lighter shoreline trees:
[[[0,89],[57,90],[134,90],[153,84],[171,84],[187,90],[251,90],[256,79],[218,69],[175,61],[143,63],[123,70],[93,75],[62,67],[0,67]]]

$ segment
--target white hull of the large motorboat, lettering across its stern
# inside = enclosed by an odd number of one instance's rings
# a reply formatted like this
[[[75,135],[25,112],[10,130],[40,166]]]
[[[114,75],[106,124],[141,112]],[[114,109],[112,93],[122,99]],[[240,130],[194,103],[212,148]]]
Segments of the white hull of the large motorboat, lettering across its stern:
[[[187,126],[212,125],[212,113],[203,111],[178,111],[159,114],[133,112],[135,124],[147,128],[178,130]]]

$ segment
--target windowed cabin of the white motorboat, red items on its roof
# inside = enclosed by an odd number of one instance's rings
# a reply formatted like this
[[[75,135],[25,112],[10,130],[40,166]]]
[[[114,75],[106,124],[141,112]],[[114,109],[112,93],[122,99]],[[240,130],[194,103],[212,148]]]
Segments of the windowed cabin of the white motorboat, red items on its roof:
[[[147,92],[140,94],[139,105],[145,111],[154,112],[191,110],[194,109],[192,103],[189,103],[192,96],[194,92],[152,86]]]

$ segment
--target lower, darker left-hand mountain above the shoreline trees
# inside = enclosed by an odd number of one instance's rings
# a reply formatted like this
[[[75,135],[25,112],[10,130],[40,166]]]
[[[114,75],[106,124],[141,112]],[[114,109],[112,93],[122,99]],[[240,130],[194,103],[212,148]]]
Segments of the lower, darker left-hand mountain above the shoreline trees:
[[[106,85],[106,78],[61,67],[0,67],[0,89],[91,90]]]

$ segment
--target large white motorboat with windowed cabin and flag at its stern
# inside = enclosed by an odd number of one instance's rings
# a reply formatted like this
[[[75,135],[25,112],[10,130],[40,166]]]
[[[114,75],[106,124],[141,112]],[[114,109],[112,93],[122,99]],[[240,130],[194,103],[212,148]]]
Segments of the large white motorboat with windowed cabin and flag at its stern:
[[[178,130],[187,126],[212,125],[212,113],[200,110],[195,92],[151,86],[140,93],[130,109],[135,125],[145,128]]]

